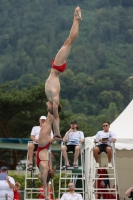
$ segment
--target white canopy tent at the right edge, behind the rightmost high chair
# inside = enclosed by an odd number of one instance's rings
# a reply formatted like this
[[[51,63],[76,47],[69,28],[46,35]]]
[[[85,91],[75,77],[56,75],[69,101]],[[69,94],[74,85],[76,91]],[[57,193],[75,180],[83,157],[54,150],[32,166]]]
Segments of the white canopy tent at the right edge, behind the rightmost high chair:
[[[111,124],[110,130],[117,136],[115,148],[119,190],[121,197],[126,197],[125,191],[133,185],[133,100]],[[87,151],[93,148],[94,137],[88,137],[85,141],[87,167],[89,166]],[[107,157],[102,160],[102,165],[105,164]]]

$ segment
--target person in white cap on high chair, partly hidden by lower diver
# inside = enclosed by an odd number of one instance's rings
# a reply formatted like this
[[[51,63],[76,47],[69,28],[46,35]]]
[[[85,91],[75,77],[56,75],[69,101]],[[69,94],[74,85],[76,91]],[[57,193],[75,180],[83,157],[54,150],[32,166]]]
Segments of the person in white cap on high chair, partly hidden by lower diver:
[[[33,154],[34,154],[34,151],[37,151],[39,133],[45,121],[46,121],[46,116],[41,116],[39,118],[39,126],[34,126],[31,131],[30,138],[32,142],[28,144],[28,158],[29,158],[28,170],[29,171],[33,170]],[[54,141],[53,131],[51,130],[51,142],[53,141]]]

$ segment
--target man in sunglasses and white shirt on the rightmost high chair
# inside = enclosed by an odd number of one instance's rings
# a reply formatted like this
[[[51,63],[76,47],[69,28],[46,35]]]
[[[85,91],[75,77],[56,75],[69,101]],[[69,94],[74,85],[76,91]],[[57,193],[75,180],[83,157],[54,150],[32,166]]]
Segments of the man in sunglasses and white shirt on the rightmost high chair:
[[[98,163],[98,154],[101,152],[105,152],[108,156],[108,167],[112,168],[112,148],[111,148],[111,142],[115,143],[116,142],[116,134],[109,131],[110,128],[110,123],[105,121],[103,122],[103,130],[98,131],[96,134],[96,139],[95,142],[98,142],[98,145],[94,147],[93,149],[93,154],[94,158],[96,160],[96,166],[99,167]]]

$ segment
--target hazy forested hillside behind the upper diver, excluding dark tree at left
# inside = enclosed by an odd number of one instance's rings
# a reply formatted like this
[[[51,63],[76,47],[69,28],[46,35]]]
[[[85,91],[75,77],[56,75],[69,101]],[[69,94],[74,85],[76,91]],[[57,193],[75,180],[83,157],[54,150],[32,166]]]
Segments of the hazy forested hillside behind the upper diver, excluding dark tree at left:
[[[61,76],[61,98],[74,113],[99,115],[110,103],[119,113],[132,95],[127,80],[133,66],[131,0],[2,0],[0,82],[15,80],[21,88],[47,78],[77,4],[83,20]]]

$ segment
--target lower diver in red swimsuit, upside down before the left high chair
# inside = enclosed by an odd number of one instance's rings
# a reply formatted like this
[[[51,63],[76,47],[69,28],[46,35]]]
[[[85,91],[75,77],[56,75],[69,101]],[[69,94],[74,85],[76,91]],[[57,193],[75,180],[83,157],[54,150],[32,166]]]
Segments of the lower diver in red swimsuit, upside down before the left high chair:
[[[45,123],[43,124],[40,130],[38,138],[36,164],[40,170],[39,179],[43,184],[45,200],[49,200],[47,185],[49,179],[53,178],[56,168],[50,170],[49,152],[48,152],[48,148],[50,146],[50,141],[51,141],[50,133],[51,133],[51,126],[53,123],[53,107],[52,104],[49,102],[47,102],[46,105],[47,105],[48,115]]]

